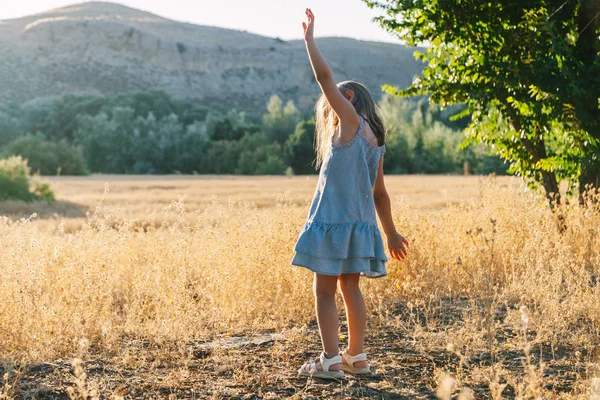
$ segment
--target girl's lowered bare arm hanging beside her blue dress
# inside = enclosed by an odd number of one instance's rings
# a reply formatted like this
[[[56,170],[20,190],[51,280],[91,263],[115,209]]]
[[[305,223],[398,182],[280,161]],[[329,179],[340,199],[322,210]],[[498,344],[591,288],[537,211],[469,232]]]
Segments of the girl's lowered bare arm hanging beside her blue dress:
[[[406,257],[408,241],[396,231],[396,226],[394,225],[392,202],[383,181],[383,156],[379,158],[377,179],[375,180],[375,185],[373,185],[373,199],[375,200],[375,209],[381,221],[381,226],[387,237],[390,255],[400,261]]]

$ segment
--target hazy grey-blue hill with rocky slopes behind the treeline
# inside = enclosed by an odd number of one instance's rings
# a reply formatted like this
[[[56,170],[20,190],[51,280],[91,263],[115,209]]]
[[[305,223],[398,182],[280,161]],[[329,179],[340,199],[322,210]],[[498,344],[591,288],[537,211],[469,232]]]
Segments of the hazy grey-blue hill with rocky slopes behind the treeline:
[[[421,70],[414,49],[345,38],[317,39],[337,81],[375,96]],[[0,21],[0,105],[65,94],[163,89],[221,105],[262,107],[272,94],[309,107],[318,94],[304,42],[165,19],[91,2]]]

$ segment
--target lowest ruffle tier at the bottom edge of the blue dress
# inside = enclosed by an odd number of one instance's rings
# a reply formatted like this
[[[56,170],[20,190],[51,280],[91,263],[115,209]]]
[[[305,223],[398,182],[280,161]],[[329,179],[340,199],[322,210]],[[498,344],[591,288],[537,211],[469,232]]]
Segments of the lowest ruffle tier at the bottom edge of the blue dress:
[[[291,264],[322,275],[340,276],[342,274],[360,273],[361,276],[367,278],[381,278],[387,275],[385,261],[373,260],[367,257],[331,259],[297,252]]]

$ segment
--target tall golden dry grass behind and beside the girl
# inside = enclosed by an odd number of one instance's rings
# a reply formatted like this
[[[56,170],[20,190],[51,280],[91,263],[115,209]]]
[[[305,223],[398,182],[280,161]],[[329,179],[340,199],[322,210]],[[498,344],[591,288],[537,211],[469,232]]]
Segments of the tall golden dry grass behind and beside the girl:
[[[41,361],[73,356],[82,340],[118,351],[131,335],[185,342],[308,323],[311,275],[289,264],[308,200],[287,190],[267,210],[233,198],[190,210],[181,196],[143,229],[103,202],[74,230],[0,219],[1,357]],[[600,207],[561,213],[562,233],[542,196],[493,180],[436,212],[395,197],[410,256],[390,257],[388,277],[363,280],[371,321],[455,353],[465,369],[452,384],[487,380],[494,398],[506,384],[516,397],[552,397],[531,354],[575,349],[586,373],[573,393],[587,393],[600,340]],[[489,366],[468,369],[482,351]],[[502,362],[514,351],[522,374]]]

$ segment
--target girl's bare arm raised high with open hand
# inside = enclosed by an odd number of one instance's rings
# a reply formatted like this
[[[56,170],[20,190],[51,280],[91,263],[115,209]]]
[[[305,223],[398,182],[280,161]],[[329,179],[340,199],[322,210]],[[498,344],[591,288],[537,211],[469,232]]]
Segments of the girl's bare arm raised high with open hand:
[[[360,121],[356,109],[338,89],[333,80],[331,68],[315,42],[313,36],[315,16],[309,8],[306,9],[306,17],[308,18],[308,23],[302,22],[304,42],[310,64],[312,65],[315,78],[321,87],[321,91],[343,124],[358,127]]]

